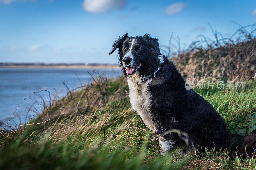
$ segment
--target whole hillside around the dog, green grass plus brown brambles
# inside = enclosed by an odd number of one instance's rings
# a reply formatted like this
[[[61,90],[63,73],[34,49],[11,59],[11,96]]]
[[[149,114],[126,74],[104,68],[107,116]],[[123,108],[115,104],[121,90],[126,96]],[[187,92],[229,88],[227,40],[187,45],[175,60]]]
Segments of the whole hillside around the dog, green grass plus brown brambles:
[[[183,76],[197,83],[244,81],[242,89],[194,89],[224,118],[237,151],[247,134],[256,134],[256,39],[254,31],[239,30],[236,42],[215,32],[215,41],[203,37],[205,48],[198,41],[173,58]],[[170,38],[168,54],[171,45]],[[256,156],[232,159],[228,151],[161,156],[156,135],[131,108],[124,77],[100,76],[67,91],[50,106],[42,101],[43,112],[28,124],[0,132],[0,169],[256,169]]]

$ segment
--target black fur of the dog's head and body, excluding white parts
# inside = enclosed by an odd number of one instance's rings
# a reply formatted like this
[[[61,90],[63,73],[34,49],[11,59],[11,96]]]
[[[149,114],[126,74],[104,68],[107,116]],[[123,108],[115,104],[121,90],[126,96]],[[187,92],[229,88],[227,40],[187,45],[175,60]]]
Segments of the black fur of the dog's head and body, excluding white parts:
[[[128,37],[126,33],[114,42],[113,50],[110,52],[112,54],[116,48],[119,48],[119,63],[125,76],[128,75],[125,72],[126,65],[122,64],[126,54],[123,49],[131,45],[129,42],[133,38]],[[141,47],[142,50],[138,52],[136,47]],[[160,63],[161,53],[157,38],[150,37],[149,34],[135,37],[132,55],[135,67],[141,63],[138,69],[140,76],[161,80],[161,84],[149,86],[152,93],[150,111],[160,134],[170,129],[186,132],[191,144],[199,152],[202,151],[201,148],[203,150],[227,148],[229,133],[223,118],[193,89],[186,90],[185,81],[172,61],[163,56],[164,62]],[[154,75],[154,71],[159,67],[160,70]],[[184,144],[175,133],[167,134],[164,138],[172,141],[174,147]]]

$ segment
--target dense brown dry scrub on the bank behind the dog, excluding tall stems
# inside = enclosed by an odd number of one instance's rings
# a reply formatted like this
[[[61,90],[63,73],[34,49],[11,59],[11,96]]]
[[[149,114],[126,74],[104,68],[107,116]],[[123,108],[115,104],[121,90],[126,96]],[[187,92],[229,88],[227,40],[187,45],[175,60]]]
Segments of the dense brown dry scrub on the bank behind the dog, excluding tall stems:
[[[193,47],[173,60],[186,78],[195,81],[205,78],[255,80],[256,39],[207,50]]]

